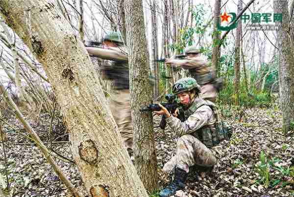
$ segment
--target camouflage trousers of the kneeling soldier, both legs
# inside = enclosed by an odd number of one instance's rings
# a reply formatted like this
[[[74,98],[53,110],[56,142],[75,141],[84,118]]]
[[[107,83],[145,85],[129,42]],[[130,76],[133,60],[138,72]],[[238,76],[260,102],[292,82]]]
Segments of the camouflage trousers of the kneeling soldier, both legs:
[[[221,158],[221,146],[207,148],[200,140],[190,134],[182,135],[176,144],[176,155],[168,161],[163,171],[170,173],[175,167],[189,172],[189,167],[195,164],[202,167],[212,167]]]

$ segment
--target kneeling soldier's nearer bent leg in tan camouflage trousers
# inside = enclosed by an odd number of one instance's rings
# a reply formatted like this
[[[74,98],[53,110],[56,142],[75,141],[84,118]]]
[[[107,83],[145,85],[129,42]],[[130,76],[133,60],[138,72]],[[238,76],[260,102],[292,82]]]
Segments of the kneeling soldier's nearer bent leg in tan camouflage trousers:
[[[215,154],[193,135],[182,135],[177,141],[176,149],[176,167],[187,173],[189,167],[195,164],[212,167],[217,163]]]

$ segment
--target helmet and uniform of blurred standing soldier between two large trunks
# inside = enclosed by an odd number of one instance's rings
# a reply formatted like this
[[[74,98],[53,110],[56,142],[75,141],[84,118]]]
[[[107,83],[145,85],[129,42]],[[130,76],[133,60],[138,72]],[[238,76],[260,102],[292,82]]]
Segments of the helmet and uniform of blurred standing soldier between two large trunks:
[[[123,44],[117,32],[109,33],[104,41]],[[127,54],[123,47],[94,48],[87,47],[92,55],[106,59],[101,66],[101,71],[106,78],[113,80],[117,94],[110,100],[110,110],[118,125],[118,130],[123,138],[124,145],[131,156],[133,153],[133,123],[130,110],[129,68]]]

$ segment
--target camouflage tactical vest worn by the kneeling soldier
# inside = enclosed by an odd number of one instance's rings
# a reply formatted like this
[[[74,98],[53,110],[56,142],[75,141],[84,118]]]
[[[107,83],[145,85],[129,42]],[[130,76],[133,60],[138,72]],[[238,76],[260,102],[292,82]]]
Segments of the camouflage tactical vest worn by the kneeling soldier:
[[[206,125],[198,129],[197,131],[194,131],[191,134],[197,139],[199,139],[205,146],[207,146],[208,148],[211,148],[215,145],[218,145],[221,140],[220,131],[218,130],[219,128],[218,125],[220,121],[219,121],[216,105],[210,101],[204,101],[202,99],[199,102],[193,102],[188,109],[184,110],[185,120],[187,120],[188,117],[196,111],[196,109],[200,108],[203,105],[210,107],[210,109],[213,112],[213,116],[215,118],[215,123],[213,125]]]

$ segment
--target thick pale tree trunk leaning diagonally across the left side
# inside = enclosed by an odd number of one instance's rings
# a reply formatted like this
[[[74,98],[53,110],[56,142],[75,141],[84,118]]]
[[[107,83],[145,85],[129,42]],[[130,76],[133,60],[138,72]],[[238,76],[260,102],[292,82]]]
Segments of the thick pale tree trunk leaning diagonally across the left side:
[[[89,55],[58,6],[45,0],[2,0],[0,11],[43,65],[67,120],[73,158],[89,196],[147,197]]]

